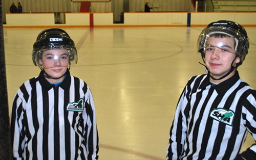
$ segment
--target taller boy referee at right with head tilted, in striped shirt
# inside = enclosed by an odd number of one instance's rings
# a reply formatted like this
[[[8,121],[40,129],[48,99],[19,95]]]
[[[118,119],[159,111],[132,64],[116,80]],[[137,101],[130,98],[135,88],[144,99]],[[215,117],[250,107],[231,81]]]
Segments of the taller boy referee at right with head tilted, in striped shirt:
[[[240,153],[248,132],[256,141],[256,92],[237,67],[248,53],[245,29],[221,20],[199,36],[207,74],[186,84],[170,128],[166,159],[256,159],[256,143]]]

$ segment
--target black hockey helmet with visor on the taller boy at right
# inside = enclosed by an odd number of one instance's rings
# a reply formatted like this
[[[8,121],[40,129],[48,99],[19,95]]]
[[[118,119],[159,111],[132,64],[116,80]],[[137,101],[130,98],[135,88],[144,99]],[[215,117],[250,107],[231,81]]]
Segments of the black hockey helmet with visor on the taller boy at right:
[[[223,34],[234,38],[234,49],[236,51],[234,54],[240,58],[238,66],[241,65],[249,49],[249,39],[243,26],[229,20],[219,20],[208,24],[198,38],[198,51],[201,53],[203,59],[205,57],[207,38],[215,34]]]

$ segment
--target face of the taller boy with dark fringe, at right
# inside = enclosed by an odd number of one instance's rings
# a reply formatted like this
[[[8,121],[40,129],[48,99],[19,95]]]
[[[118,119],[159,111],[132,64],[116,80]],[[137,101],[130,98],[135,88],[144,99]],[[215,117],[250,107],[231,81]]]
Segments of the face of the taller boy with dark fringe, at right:
[[[209,37],[206,43],[205,65],[209,69],[211,76],[220,78],[224,76],[231,68],[231,63],[236,57],[234,50],[233,37]],[[233,66],[239,63],[237,58]],[[231,77],[235,72],[230,73],[225,79]],[[223,79],[223,81],[225,80]]]

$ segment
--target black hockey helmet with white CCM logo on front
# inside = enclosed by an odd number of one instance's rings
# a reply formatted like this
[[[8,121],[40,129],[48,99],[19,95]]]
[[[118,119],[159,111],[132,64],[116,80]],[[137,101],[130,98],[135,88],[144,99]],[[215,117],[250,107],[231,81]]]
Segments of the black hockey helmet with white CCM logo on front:
[[[77,63],[77,50],[74,41],[70,38],[67,32],[61,29],[47,29],[39,33],[36,42],[33,45],[32,59],[35,66],[39,64],[41,53],[49,49],[67,49],[69,53],[69,64]]]

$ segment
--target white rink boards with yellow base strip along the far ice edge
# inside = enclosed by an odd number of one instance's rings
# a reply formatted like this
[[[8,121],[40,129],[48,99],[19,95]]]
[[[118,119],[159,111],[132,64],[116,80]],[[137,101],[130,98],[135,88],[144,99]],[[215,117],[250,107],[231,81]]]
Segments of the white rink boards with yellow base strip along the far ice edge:
[[[212,21],[231,20],[256,26],[256,12],[127,12],[124,23],[114,23],[113,13],[63,13],[56,23],[54,13],[6,14],[4,28],[105,27],[105,26],[205,26]]]

